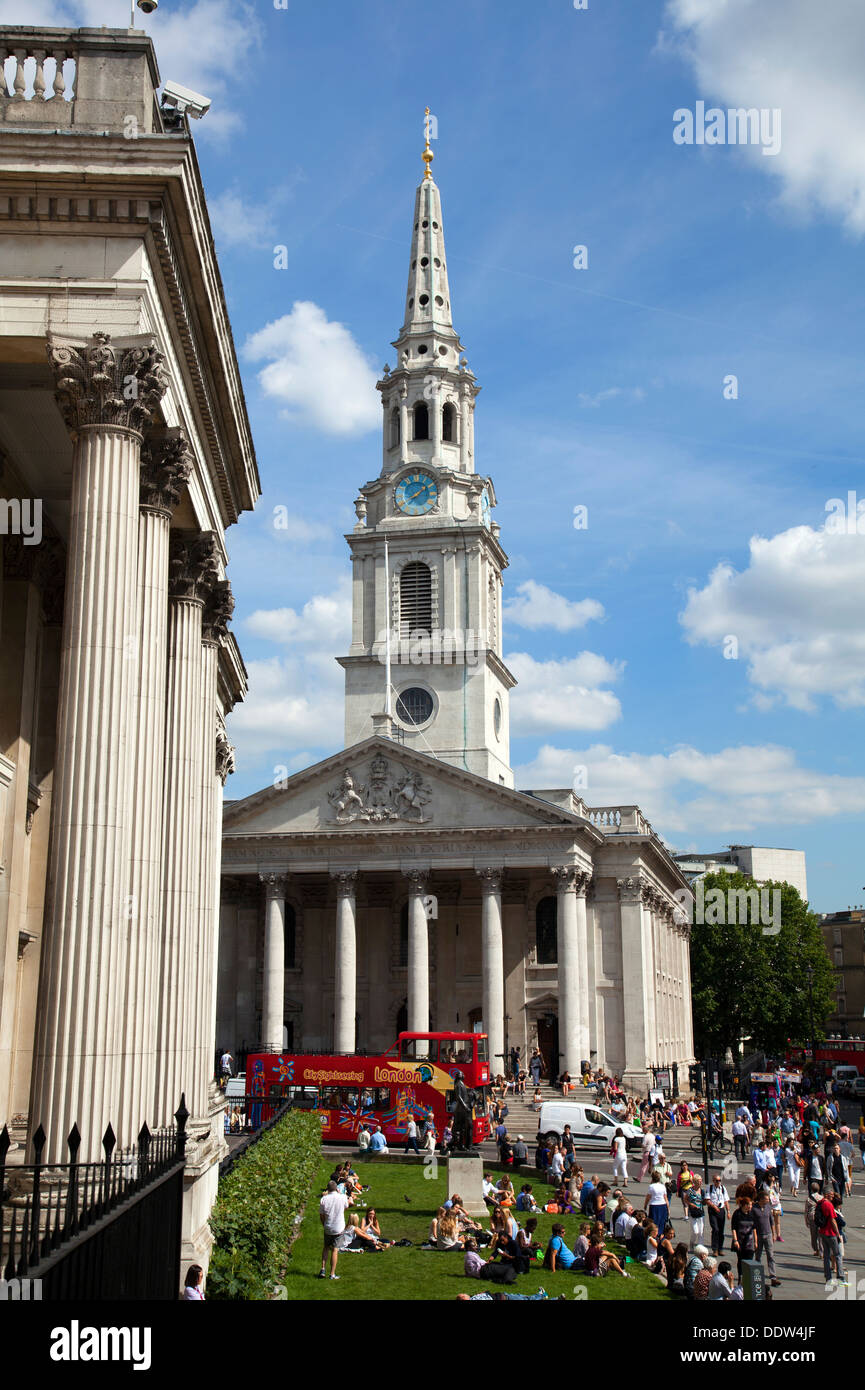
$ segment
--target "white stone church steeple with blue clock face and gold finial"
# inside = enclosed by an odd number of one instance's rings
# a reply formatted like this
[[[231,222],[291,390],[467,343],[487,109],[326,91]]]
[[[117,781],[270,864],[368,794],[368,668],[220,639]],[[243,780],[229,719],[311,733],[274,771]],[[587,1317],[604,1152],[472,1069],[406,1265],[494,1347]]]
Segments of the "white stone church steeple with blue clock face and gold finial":
[[[428,121],[428,111],[427,111]],[[414,196],[396,366],[385,366],[381,473],[360,488],[352,550],[346,746],[385,734],[513,787],[492,481],[476,471],[480,386],[451,314],[432,150]]]

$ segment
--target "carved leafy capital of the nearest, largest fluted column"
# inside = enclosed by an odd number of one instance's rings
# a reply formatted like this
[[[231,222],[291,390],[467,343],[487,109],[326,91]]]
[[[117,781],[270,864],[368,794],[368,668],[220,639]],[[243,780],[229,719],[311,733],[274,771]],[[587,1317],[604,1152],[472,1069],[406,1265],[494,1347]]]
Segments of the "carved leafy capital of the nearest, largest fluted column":
[[[168,388],[164,354],[150,336],[54,338],[47,353],[57,404],[72,432],[120,425],[140,434]]]

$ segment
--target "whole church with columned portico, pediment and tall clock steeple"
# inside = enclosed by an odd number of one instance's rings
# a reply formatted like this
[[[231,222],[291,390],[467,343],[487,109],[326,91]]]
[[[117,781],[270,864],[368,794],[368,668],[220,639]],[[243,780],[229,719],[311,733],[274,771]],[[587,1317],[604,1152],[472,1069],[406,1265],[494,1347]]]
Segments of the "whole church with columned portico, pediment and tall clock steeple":
[[[687,881],[638,806],[513,790],[508,556],[431,158],[346,538],[346,746],[225,808],[217,1041],[350,1054],[481,1029],[494,1070],[537,1042],[553,1076],[590,1062],[644,1090],[693,1059]]]

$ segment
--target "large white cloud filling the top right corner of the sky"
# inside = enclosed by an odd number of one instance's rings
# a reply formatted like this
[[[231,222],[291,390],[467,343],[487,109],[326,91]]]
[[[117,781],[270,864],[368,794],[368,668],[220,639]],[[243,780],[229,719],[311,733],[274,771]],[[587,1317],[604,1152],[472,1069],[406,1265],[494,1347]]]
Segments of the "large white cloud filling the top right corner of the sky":
[[[865,6],[861,0],[668,0],[661,49],[693,65],[697,96],[782,111],[782,147],[743,156],[782,179],[797,208],[865,232]],[[687,106],[686,101],[677,103]],[[672,115],[672,113],[670,113]],[[672,132],[672,121],[670,121]],[[670,133],[672,139],[672,133]]]

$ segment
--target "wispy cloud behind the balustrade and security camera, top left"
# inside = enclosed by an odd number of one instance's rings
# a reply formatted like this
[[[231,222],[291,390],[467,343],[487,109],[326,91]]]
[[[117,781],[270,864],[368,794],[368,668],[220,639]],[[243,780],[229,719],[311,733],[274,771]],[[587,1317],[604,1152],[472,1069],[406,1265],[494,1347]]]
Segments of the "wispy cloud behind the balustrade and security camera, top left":
[[[129,0],[0,0],[0,24],[56,25],[60,28],[125,28]],[[182,10],[165,3],[152,15],[135,10],[135,26],[150,35],[163,81],[203,92],[213,106],[200,122],[196,138],[225,136],[243,124],[246,85],[238,74],[249,74],[252,54],[261,40],[256,7],[249,0],[193,0]],[[232,110],[236,99],[239,110]]]

